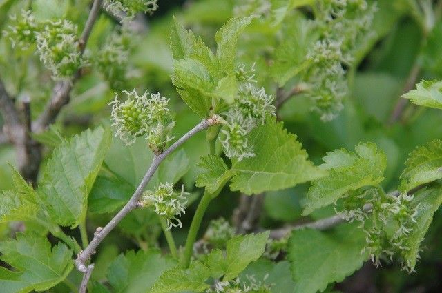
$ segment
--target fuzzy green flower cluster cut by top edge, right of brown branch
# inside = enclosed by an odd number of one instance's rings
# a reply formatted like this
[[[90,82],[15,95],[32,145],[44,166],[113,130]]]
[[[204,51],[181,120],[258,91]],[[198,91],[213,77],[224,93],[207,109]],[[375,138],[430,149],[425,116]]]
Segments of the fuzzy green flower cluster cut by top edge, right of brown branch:
[[[158,8],[158,0],[107,0],[104,2],[104,8],[112,14],[126,13],[123,22],[130,21],[138,12],[148,13],[150,15]]]

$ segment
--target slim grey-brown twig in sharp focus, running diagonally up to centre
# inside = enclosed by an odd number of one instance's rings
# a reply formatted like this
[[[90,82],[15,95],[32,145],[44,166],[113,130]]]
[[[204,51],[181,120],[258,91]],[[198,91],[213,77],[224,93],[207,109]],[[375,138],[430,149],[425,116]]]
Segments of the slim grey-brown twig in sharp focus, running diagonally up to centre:
[[[140,182],[140,185],[138,185],[137,190],[133,193],[131,196],[131,199],[129,199],[128,203],[124,205],[122,210],[120,210],[114,217],[111,219],[109,223],[107,223],[104,228],[100,228],[95,232],[94,238],[92,241],[90,241],[89,245],[82,251],[80,254],[78,254],[77,259],[75,260],[75,265],[77,266],[77,270],[80,272],[86,272],[86,261],[90,259],[90,256],[92,256],[95,253],[95,249],[97,249],[99,243],[103,241],[103,239],[106,237],[109,232],[117,226],[117,224],[124,219],[124,217],[137,208],[138,202],[140,201],[140,197],[142,196],[142,193],[144,191],[144,188],[146,188],[147,183],[151,180],[153,174],[155,173],[155,170],[157,170],[160,163],[173,152],[176,150],[180,145],[182,145],[185,141],[193,137],[193,135],[197,134],[198,132],[205,130],[209,128],[209,126],[214,125],[215,123],[218,123],[216,120],[217,116],[213,116],[209,119],[204,119],[198,125],[196,125],[194,128],[192,128],[189,132],[184,134],[183,137],[175,141],[173,145],[171,145],[169,148],[164,150],[161,154],[155,154],[153,157],[153,161],[151,163],[151,166],[148,168],[146,174],[144,175],[144,178]]]

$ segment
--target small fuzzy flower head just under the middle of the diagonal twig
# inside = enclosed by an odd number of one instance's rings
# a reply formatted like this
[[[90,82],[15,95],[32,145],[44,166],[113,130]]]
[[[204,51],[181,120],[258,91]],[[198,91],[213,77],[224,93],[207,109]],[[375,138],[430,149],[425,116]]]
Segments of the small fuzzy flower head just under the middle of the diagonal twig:
[[[178,217],[186,213],[186,195],[188,194],[184,192],[184,185],[180,192],[175,192],[171,183],[160,183],[155,190],[144,192],[140,205],[153,206],[155,212],[166,219],[168,230],[172,227],[182,228]]]

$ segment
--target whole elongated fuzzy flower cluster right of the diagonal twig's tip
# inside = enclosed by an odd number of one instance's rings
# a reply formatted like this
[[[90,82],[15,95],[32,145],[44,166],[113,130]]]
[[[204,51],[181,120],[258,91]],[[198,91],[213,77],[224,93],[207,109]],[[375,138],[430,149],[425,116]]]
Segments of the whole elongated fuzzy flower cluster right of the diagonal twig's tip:
[[[263,124],[267,115],[276,114],[276,108],[271,104],[273,97],[267,95],[264,88],[256,88],[253,84],[256,83],[254,71],[254,66],[251,70],[245,70],[244,65],[238,66],[236,77],[242,83],[238,96],[226,114],[227,128],[221,130],[224,134],[224,138],[220,138],[224,154],[238,161],[255,156],[247,134]]]

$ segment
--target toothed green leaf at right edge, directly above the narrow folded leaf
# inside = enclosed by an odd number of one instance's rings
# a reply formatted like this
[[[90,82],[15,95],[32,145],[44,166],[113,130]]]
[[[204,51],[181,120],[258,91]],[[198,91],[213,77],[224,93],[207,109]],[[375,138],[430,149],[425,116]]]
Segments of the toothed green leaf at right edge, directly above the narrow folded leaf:
[[[403,192],[416,186],[442,178],[442,141],[430,141],[412,151],[405,162],[407,166],[401,174],[400,189]]]

